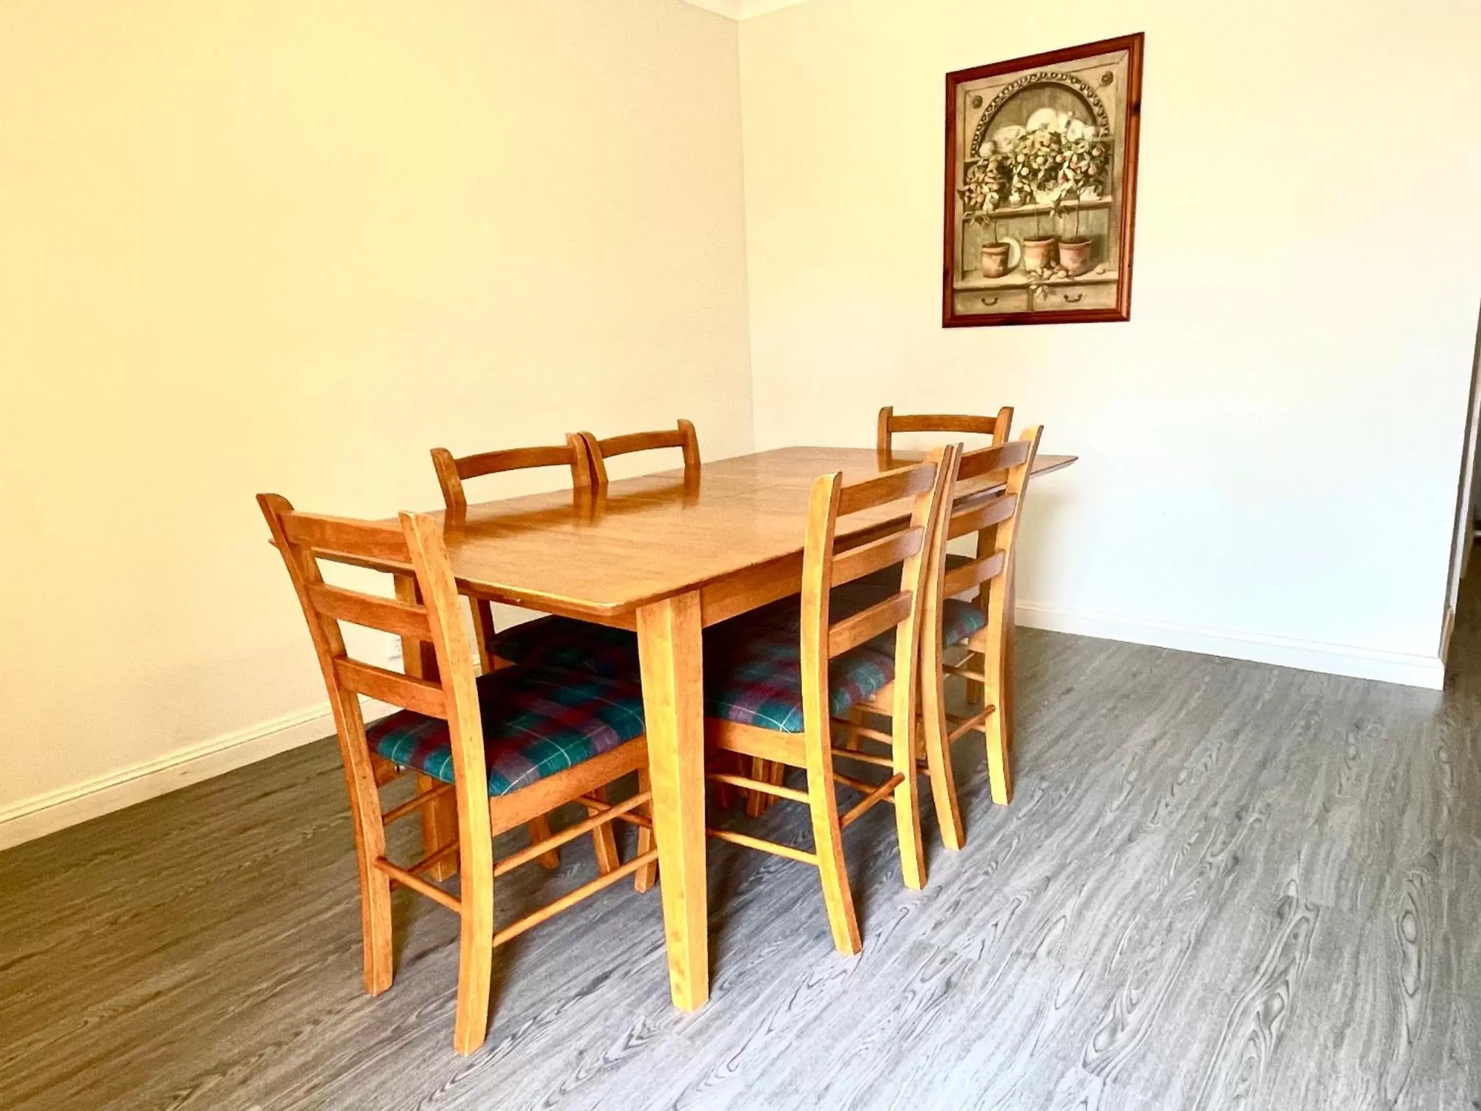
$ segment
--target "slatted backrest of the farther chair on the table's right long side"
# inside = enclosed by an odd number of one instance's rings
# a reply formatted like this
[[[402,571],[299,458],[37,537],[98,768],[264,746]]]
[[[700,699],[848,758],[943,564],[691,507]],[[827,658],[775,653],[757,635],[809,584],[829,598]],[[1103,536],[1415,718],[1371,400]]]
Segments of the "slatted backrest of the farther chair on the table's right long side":
[[[940,603],[958,594],[986,597],[988,637],[1001,638],[1007,621],[1013,581],[1013,560],[1017,551],[1019,516],[1028,490],[1028,477],[1038,455],[1038,440],[1043,425],[1026,430],[1017,440],[983,447],[961,455],[955,484],[942,499],[942,527],[939,532],[939,558],[933,558],[930,585],[933,606],[923,631],[926,667],[939,662],[940,655]],[[989,486],[986,492],[974,492],[973,484]],[[1003,489],[994,492],[994,486]],[[946,545],[958,536],[976,533],[977,551],[970,560],[948,569]]]

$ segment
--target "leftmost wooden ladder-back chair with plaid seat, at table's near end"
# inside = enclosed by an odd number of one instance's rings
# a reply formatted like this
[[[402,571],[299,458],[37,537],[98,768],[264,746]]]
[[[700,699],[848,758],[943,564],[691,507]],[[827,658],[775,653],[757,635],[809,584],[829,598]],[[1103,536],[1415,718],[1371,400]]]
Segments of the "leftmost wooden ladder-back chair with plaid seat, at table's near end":
[[[278,495],[259,495],[258,502],[308,621],[335,714],[360,865],[366,991],[378,995],[391,987],[391,886],[447,907],[462,920],[453,1047],[471,1053],[487,1031],[493,947],[625,875],[637,873],[640,890],[653,881],[658,853],[646,813],[652,795],[641,692],[631,683],[538,668],[477,677],[441,526],[431,517],[403,513],[400,524],[354,521],[296,513]],[[320,561],[410,573],[421,601],[332,587]],[[350,658],[342,621],[429,644],[437,677],[403,675]],[[403,710],[367,729],[360,695]],[[551,702],[560,714],[544,711]],[[378,788],[407,767],[435,779],[435,787],[382,810]],[[629,772],[638,773],[638,794],[615,806],[595,795]],[[385,827],[449,797],[456,837],[415,864],[392,864]],[[589,816],[544,843],[493,858],[495,835],[570,801]],[[640,827],[637,853],[625,864],[612,837],[615,819]],[[597,878],[495,929],[495,877],[585,833],[598,838]],[[424,878],[446,861],[458,864],[456,895]]]

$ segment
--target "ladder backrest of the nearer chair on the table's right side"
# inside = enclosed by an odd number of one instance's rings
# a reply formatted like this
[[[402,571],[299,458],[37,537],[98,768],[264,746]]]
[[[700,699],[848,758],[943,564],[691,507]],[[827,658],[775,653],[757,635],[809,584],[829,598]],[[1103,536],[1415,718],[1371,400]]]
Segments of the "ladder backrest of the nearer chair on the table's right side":
[[[838,473],[813,483],[803,545],[801,678],[803,729],[809,744],[828,745],[828,661],[881,633],[895,630],[896,721],[915,720],[915,668],[927,575],[937,550],[939,504],[955,474],[960,444],[937,447],[926,462],[844,484]],[[835,551],[838,520],[890,502],[909,502],[909,518],[863,544]],[[900,566],[900,587],[890,597],[831,621],[834,587]]]

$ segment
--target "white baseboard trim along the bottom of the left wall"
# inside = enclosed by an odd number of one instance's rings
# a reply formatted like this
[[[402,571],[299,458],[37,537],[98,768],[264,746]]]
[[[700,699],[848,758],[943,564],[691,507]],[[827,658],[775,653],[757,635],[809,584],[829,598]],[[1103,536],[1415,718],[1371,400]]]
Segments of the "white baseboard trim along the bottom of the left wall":
[[[394,710],[370,699],[364,699],[363,707],[366,720]],[[295,714],[176,748],[118,772],[22,798],[0,807],[0,849],[178,791],[333,732],[335,718],[329,713],[329,704],[320,702]]]

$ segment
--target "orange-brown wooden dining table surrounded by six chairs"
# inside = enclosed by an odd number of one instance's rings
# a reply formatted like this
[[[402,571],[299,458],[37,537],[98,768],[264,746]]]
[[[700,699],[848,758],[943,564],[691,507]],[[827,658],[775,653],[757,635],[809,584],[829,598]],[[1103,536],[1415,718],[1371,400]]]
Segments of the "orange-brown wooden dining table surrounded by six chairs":
[[[800,590],[809,490],[820,474],[857,481],[920,459],[782,447],[687,476],[622,478],[444,516],[462,591],[637,633],[669,987],[684,1010],[709,998],[702,631]],[[1034,474],[1074,461],[1040,455]],[[994,486],[1001,476],[972,489]],[[853,514],[840,544],[905,513],[895,505]]]

